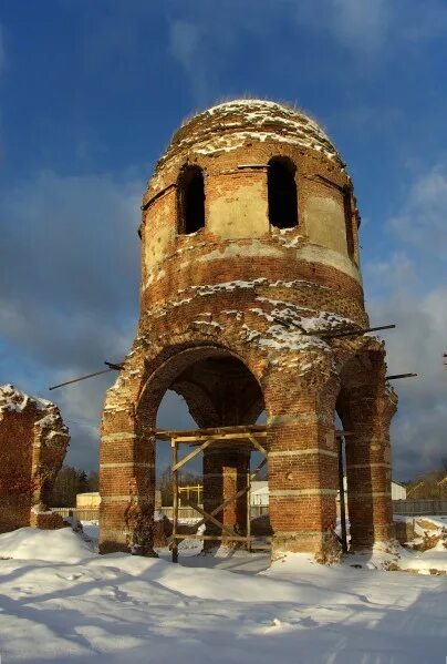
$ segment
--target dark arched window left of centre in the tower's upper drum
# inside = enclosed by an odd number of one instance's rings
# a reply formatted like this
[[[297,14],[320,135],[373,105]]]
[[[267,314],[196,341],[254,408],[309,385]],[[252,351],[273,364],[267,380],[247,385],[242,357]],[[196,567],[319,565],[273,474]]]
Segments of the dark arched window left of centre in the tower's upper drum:
[[[205,226],[204,173],[199,166],[186,166],[178,182],[178,232],[197,233]]]

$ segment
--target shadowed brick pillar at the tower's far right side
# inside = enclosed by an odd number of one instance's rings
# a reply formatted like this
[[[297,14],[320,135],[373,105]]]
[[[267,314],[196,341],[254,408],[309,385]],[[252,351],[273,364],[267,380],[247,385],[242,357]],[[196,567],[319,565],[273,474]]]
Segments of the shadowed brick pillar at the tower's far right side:
[[[396,403],[384,382],[349,394],[346,423],[353,435],[346,437],[346,479],[353,551],[395,539],[389,425]]]

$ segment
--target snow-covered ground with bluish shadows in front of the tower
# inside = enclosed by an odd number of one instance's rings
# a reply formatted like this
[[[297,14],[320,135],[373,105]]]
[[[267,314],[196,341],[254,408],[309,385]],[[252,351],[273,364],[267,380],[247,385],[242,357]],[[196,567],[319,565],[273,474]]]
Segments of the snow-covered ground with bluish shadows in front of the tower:
[[[70,529],[0,535],[1,663],[446,661],[446,575],[196,553],[174,565],[166,551],[100,556]]]

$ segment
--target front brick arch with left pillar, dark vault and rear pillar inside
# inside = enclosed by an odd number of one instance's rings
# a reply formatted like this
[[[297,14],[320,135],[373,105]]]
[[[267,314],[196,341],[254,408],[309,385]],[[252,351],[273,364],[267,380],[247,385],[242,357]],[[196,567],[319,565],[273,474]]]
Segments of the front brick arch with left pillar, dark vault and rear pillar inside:
[[[117,386],[110,390],[104,409],[100,542],[104,552],[128,550],[129,546],[136,546],[143,553],[152,551],[153,432],[167,389],[181,394],[200,427],[252,423],[263,410],[262,390],[258,377],[248,366],[250,360],[227,347],[211,344],[209,339],[201,344],[184,340],[146,356],[144,350],[134,349],[132,356]],[[239,379],[231,387],[233,372]],[[236,395],[232,399],[231,390]],[[227,408],[219,408],[219,400],[226,401]],[[247,449],[215,447],[212,452],[205,454],[206,509],[211,510],[216,502],[240,489],[241,482],[247,481],[248,460]],[[245,510],[243,500],[230,505],[224,512],[224,522],[236,525],[243,521]]]

